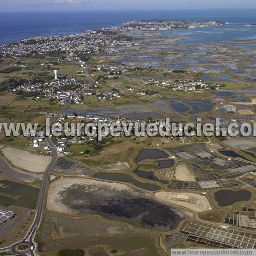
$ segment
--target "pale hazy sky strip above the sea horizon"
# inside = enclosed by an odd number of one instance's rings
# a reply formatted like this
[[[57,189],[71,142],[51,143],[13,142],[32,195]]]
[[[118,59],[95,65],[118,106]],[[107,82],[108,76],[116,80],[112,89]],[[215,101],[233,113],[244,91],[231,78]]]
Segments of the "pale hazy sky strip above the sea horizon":
[[[0,12],[75,10],[251,9],[255,0],[0,0]]]

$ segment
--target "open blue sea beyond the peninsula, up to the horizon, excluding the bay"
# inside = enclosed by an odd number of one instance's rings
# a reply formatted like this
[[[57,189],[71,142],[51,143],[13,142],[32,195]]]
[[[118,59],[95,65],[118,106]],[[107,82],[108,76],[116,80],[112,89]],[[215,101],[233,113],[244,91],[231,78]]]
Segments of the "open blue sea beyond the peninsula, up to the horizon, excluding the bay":
[[[228,13],[228,14],[227,14]],[[253,10],[149,10],[149,11],[70,11],[6,12],[0,15],[0,44],[37,36],[75,35],[104,27],[121,26],[132,20],[223,20],[232,24],[254,24]],[[251,26],[253,27],[253,26]]]

